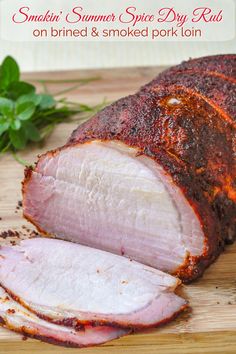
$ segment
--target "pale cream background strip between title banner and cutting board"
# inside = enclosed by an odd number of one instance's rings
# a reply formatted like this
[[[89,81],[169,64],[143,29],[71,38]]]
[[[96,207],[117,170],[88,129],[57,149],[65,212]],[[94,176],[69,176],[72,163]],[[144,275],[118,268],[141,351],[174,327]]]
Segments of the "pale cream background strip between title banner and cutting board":
[[[40,8],[40,1],[38,5]],[[173,65],[190,57],[235,53],[236,41],[12,42],[0,39],[0,48],[0,60],[10,54],[19,62],[22,71],[30,72]]]

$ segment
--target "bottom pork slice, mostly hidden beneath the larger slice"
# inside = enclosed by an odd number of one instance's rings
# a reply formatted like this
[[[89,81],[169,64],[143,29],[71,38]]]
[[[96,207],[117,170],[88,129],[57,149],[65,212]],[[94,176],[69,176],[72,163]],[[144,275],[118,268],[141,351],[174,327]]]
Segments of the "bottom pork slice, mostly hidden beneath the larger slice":
[[[128,330],[108,326],[85,326],[77,331],[38,318],[14,301],[0,287],[0,325],[31,338],[66,347],[88,347],[128,334]]]

